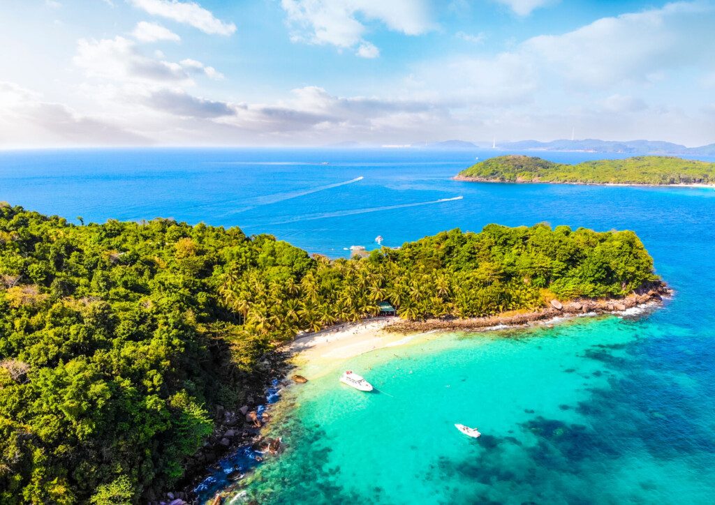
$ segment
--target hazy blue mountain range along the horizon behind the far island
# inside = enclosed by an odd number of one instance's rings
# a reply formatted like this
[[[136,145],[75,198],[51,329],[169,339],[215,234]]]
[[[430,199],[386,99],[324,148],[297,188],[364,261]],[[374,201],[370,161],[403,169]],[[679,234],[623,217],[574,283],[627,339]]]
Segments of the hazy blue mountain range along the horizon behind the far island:
[[[359,148],[368,147],[359,142],[341,142],[332,147]],[[374,147],[374,146],[373,146]],[[491,149],[492,142],[468,142],[463,140],[448,140],[443,142],[415,142],[409,146],[414,149],[445,149],[455,150],[483,150]],[[686,147],[672,142],[651,140],[611,141],[598,139],[583,140],[553,140],[541,142],[538,140],[522,140],[517,142],[497,143],[495,151],[581,151],[593,153],[626,153],[626,154],[677,154],[690,156],[715,156],[715,144],[700,147]]]

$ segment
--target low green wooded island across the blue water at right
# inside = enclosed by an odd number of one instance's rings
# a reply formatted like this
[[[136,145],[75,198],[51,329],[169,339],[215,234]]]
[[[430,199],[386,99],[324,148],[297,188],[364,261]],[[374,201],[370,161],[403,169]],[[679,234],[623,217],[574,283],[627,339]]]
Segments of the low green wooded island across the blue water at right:
[[[549,182],[564,184],[712,185],[715,163],[672,156],[554,163],[535,156],[497,156],[480,161],[455,176],[458,181]]]

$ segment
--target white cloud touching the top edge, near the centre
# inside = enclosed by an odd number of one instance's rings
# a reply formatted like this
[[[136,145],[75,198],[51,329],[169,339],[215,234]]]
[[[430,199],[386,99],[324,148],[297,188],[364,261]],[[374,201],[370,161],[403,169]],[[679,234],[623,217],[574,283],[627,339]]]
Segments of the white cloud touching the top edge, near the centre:
[[[281,0],[292,27],[291,39],[355,49],[358,56],[375,58],[379,50],[363,39],[367,21],[388,29],[419,35],[433,29],[426,0]]]

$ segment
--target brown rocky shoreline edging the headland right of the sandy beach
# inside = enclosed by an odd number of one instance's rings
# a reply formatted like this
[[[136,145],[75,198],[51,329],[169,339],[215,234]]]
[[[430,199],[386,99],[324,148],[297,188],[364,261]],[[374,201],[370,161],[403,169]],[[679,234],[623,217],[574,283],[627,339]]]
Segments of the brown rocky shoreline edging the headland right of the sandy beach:
[[[551,306],[538,311],[497,316],[475,317],[470,319],[426,319],[425,321],[397,321],[385,326],[385,331],[413,333],[424,331],[470,331],[493,328],[495,326],[523,326],[535,321],[546,321],[559,316],[578,316],[581,314],[612,314],[637,306],[659,304],[664,297],[673,294],[664,282],[655,281],[643,286],[628,296],[609,299],[576,299],[561,303],[551,300]]]

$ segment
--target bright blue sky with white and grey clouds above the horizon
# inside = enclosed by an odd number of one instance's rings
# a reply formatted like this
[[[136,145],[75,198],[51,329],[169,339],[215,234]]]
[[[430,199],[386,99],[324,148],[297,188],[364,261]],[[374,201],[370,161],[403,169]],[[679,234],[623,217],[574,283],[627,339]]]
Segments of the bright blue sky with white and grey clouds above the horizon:
[[[4,0],[0,147],[710,144],[712,26],[712,0]]]

